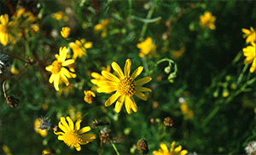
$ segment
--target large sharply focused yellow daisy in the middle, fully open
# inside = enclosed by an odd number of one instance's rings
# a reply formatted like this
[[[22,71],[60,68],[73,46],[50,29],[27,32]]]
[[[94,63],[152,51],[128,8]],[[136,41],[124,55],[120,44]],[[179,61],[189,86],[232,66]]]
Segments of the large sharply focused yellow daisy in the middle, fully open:
[[[116,77],[110,72],[102,71],[102,76],[107,80],[103,80],[97,83],[99,87],[97,89],[98,93],[111,93],[116,91],[106,102],[105,106],[110,106],[113,104],[115,100],[117,100],[114,110],[115,112],[120,112],[121,108],[125,101],[125,109],[130,114],[131,109],[134,112],[137,112],[137,105],[132,95],[136,95],[138,98],[142,100],[147,100],[148,97],[144,95],[142,92],[151,92],[151,89],[140,87],[139,85],[143,85],[151,81],[152,78],[146,77],[135,81],[135,78],[143,72],[143,66],[139,66],[135,72],[133,72],[130,76],[131,72],[131,60],[127,59],[125,62],[125,74],[122,72],[121,68],[116,62],[111,64],[113,67],[113,71],[117,73]]]

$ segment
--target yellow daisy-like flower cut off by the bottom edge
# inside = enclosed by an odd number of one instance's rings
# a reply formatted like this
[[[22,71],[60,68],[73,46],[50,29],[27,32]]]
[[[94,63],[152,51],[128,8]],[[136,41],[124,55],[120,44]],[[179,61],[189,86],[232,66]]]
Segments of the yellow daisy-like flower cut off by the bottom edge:
[[[172,142],[172,145],[171,145],[171,148],[170,148],[170,152],[166,146],[166,144],[164,143],[160,143],[160,149],[158,151],[154,151],[153,154],[154,155],[185,155],[188,153],[187,150],[182,150],[182,146],[177,146],[175,149],[174,149],[174,146],[175,146],[175,141]]]

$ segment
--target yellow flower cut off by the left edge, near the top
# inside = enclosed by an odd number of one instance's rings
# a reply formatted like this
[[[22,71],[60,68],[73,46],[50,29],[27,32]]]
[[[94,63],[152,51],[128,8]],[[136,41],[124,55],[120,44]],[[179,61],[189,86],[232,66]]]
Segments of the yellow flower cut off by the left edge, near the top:
[[[15,22],[10,21],[9,22],[9,16],[8,14],[4,14],[0,16],[0,42],[5,46],[8,43],[8,40],[10,40],[12,43],[15,43],[15,37],[13,37],[11,32],[11,26],[15,25]]]

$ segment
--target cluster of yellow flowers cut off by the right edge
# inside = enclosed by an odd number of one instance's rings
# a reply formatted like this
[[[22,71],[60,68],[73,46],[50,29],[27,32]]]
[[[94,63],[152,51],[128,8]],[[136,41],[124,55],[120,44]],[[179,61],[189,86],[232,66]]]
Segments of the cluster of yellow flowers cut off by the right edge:
[[[255,30],[251,26],[250,30],[241,29],[241,32],[244,33],[243,37],[247,38],[246,43],[249,45],[246,48],[243,48],[243,55],[245,55],[247,58],[244,60],[244,64],[251,64],[252,66],[250,68],[250,72],[254,72],[256,68],[256,50],[255,50]]]

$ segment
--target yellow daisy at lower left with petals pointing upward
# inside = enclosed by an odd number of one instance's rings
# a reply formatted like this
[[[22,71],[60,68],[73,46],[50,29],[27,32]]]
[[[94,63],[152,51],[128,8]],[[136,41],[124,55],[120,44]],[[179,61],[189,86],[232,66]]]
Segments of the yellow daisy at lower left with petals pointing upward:
[[[68,122],[68,124],[67,124]],[[84,134],[85,132],[90,131],[90,127],[84,127],[80,129],[80,123],[82,119],[79,119],[75,123],[75,127],[71,118],[67,117],[67,121],[64,117],[61,117],[61,121],[59,122],[59,128],[63,132],[55,132],[55,135],[58,136],[58,140],[64,141],[67,146],[75,146],[77,151],[81,150],[80,145],[85,145],[90,141],[96,139],[95,134]]]

